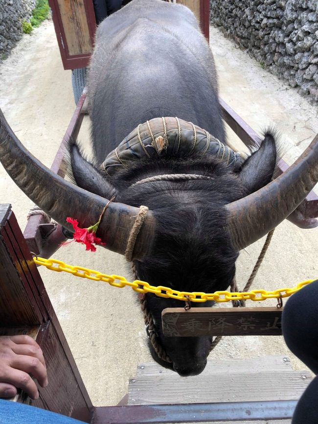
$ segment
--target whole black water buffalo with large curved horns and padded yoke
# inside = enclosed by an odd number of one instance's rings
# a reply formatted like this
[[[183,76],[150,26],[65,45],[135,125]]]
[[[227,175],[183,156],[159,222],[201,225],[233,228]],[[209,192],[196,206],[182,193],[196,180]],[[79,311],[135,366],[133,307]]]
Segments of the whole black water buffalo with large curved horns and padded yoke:
[[[138,208],[147,206],[131,252],[140,280],[190,292],[227,289],[239,251],[293,212],[318,181],[317,143],[273,182],[273,133],[247,160],[229,149],[212,53],[182,5],[134,0],[103,21],[88,92],[94,159],[70,144],[75,185],[31,157],[3,116],[1,162],[62,225],[76,213],[88,227],[114,195],[97,235],[121,254]],[[171,362],[150,343],[154,359],[182,376],[200,374],[211,338],[164,337],[162,309],[182,302],[146,297]]]

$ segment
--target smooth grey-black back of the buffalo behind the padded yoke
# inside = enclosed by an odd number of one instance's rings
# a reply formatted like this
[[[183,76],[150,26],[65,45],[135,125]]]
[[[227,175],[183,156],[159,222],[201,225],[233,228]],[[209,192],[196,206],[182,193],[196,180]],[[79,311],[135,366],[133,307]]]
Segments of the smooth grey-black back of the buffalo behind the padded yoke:
[[[100,24],[89,96],[99,159],[158,117],[191,121],[225,141],[212,53],[180,4],[134,0]]]

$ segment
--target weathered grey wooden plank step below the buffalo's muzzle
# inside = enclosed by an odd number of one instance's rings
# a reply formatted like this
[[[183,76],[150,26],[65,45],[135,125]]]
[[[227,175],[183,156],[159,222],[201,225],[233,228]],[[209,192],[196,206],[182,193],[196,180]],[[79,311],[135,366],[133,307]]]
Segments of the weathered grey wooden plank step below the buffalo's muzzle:
[[[209,361],[195,377],[140,364],[129,381],[128,405],[298,400],[312,378],[309,371],[293,370],[286,356]],[[290,420],[266,424],[278,423]]]

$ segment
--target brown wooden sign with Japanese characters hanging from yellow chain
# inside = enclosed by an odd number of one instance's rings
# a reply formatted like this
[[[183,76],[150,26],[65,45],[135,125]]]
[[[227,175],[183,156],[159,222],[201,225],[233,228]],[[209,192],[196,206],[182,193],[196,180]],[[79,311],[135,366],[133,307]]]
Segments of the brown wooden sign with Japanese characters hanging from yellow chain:
[[[277,307],[167,308],[163,334],[170,337],[281,335],[282,309]]]

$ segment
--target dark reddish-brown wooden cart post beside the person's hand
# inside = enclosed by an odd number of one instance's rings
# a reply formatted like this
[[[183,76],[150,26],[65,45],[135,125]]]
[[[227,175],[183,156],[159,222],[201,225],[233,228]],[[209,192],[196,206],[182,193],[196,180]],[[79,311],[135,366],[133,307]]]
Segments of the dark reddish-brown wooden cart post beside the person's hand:
[[[91,400],[10,205],[0,205],[0,293],[0,335],[29,334],[44,353],[49,384],[28,402],[90,423]]]

